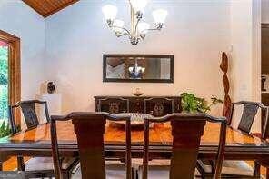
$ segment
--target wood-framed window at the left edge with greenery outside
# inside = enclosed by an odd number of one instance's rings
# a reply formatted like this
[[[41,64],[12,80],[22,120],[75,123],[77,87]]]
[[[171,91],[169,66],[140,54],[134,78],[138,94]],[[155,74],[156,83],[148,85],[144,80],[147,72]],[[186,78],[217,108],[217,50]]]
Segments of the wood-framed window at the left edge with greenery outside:
[[[8,117],[8,105],[21,99],[20,39],[0,30],[0,138],[5,136],[3,122]],[[15,114],[20,124],[20,114]]]

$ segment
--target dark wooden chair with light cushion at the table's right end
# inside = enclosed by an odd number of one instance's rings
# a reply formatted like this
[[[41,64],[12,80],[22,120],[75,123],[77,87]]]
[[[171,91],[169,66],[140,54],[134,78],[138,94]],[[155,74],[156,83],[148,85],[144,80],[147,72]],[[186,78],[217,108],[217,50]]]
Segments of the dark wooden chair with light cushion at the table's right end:
[[[264,121],[267,122],[268,118],[268,107],[261,103],[249,102],[249,101],[239,101],[232,103],[232,114],[228,119],[228,125],[231,126],[234,106],[243,106],[243,112],[241,114],[240,122],[237,126],[237,130],[244,134],[251,134],[251,127],[254,123],[254,118],[259,111],[264,111],[266,117]],[[212,161],[198,160],[197,168],[202,175],[202,178],[212,177],[214,163]],[[260,164],[258,161],[254,162],[254,167],[251,167],[245,161],[236,160],[225,160],[222,168],[223,177],[233,177],[233,178],[260,178]]]

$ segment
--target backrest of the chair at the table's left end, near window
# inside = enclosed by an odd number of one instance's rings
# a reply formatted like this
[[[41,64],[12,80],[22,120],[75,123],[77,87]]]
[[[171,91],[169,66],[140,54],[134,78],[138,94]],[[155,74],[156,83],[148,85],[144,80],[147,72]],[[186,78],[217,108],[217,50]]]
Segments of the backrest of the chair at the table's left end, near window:
[[[44,104],[45,109],[45,120],[49,122],[49,113],[47,108],[47,103],[45,101],[39,100],[27,100],[17,102],[15,105],[9,106],[9,119],[11,124],[11,129],[13,133],[17,133],[17,124],[15,119],[15,110],[21,108],[22,113],[24,114],[25,124],[27,129],[36,127],[39,124],[38,117],[36,114],[35,104]]]

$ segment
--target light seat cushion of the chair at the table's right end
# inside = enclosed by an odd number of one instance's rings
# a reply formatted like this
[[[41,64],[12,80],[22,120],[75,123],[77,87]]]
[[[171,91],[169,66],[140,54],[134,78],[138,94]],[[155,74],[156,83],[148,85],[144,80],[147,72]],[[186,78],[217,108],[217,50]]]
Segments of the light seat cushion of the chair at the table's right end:
[[[206,161],[198,160],[204,172],[211,173],[212,167]],[[254,169],[244,161],[224,160],[222,174],[253,176]]]

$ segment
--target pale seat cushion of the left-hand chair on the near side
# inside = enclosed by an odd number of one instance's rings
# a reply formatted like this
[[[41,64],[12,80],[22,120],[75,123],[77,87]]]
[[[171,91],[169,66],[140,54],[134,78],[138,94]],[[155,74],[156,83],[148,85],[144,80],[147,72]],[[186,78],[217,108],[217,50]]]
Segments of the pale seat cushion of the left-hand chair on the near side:
[[[105,178],[106,179],[123,179],[126,178],[125,164],[120,162],[105,164]],[[72,179],[81,179],[80,167],[72,175]]]

